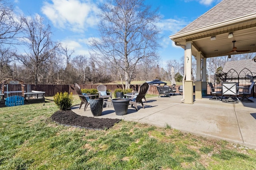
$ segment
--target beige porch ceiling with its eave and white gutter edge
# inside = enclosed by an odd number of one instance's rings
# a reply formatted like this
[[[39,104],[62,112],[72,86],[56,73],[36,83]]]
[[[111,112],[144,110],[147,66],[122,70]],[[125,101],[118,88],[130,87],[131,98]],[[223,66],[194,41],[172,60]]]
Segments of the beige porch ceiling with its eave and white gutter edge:
[[[230,32],[233,33],[233,38],[228,38]],[[216,36],[216,39],[211,40],[212,36]],[[193,56],[196,56],[198,51],[201,51],[202,57],[206,58],[253,53],[256,52],[256,14],[178,33],[169,37],[181,45],[186,45],[186,41],[192,41]],[[237,50],[250,51],[228,53],[232,51],[232,41],[236,41],[235,47],[237,47]]]

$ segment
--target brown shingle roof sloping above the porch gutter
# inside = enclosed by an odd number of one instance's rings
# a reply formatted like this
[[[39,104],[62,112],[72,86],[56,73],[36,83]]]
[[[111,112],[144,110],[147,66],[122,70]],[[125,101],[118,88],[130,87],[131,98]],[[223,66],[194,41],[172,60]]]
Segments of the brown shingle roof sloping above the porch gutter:
[[[256,0],[222,0],[178,33],[256,13]]]

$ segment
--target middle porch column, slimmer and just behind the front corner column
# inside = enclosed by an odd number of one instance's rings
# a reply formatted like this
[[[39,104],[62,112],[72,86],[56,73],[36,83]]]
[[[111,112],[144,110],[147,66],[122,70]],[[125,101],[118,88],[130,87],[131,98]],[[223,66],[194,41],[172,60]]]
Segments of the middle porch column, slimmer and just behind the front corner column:
[[[196,53],[196,87],[195,98],[202,99],[202,82],[201,82],[201,52]]]

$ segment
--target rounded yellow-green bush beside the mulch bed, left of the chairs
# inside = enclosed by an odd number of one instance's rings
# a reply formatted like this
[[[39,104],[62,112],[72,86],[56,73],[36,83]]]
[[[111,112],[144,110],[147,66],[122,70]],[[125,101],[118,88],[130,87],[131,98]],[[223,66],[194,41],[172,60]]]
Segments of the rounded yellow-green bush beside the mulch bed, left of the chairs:
[[[53,98],[54,98],[54,103],[61,110],[68,109],[73,102],[72,92],[70,94],[68,94],[68,92],[64,92],[64,93],[60,92],[55,94]]]

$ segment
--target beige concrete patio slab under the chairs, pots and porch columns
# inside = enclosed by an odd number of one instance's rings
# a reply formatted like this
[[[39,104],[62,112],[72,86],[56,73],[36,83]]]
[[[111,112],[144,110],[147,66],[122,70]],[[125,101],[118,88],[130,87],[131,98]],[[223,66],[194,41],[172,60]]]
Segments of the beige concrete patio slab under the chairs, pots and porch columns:
[[[128,113],[116,115],[113,107],[104,107],[98,118],[123,119],[147,123],[158,127],[170,125],[183,132],[222,139],[231,143],[256,148],[256,98],[254,103],[224,103],[209,100],[211,96],[197,99],[194,104],[181,102],[182,96],[147,98],[145,109],[138,104],[138,111],[128,107]],[[93,117],[90,107],[72,107],[83,116]]]

